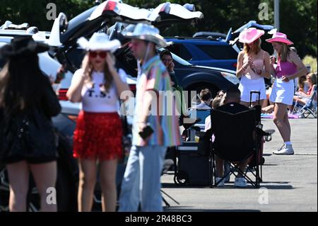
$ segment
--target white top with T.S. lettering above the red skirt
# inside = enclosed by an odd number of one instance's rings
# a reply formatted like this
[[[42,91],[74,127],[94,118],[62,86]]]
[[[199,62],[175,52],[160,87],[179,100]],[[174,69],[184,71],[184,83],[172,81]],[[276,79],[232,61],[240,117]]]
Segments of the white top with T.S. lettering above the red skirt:
[[[83,69],[78,69],[73,74],[73,79],[82,76]],[[118,71],[119,77],[122,81],[126,82],[127,75],[123,69]],[[73,82],[72,79],[72,82]],[[87,112],[93,113],[113,113],[119,111],[119,98],[117,94],[117,89],[114,84],[110,86],[107,93],[102,90],[102,85],[104,84],[104,73],[103,72],[93,72],[92,82],[86,83],[81,91],[82,103],[81,109]]]

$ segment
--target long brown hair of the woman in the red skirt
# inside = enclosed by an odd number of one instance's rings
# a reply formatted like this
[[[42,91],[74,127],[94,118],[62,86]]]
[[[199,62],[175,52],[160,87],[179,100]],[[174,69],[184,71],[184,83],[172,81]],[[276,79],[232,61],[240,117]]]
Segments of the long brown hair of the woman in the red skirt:
[[[107,52],[107,55],[108,54],[112,57],[112,59],[114,59],[114,55],[112,55],[111,52]],[[91,83],[93,80],[92,74],[94,69],[93,69],[93,64],[89,60],[89,52],[86,54],[86,56],[83,59],[82,69],[84,69],[84,74],[88,78],[88,81]],[[112,74],[110,73],[110,69],[108,68],[107,62],[105,62],[103,71],[104,71],[104,80],[105,80],[104,88],[105,88],[105,92],[107,93],[110,90],[110,87],[112,86],[112,81],[113,81]]]

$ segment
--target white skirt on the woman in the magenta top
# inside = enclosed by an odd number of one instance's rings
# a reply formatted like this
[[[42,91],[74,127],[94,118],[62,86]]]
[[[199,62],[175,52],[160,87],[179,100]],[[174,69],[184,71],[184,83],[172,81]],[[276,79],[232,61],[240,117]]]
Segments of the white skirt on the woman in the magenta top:
[[[273,103],[284,103],[286,105],[292,105],[293,97],[294,81],[282,81],[281,79],[275,79],[269,101]]]

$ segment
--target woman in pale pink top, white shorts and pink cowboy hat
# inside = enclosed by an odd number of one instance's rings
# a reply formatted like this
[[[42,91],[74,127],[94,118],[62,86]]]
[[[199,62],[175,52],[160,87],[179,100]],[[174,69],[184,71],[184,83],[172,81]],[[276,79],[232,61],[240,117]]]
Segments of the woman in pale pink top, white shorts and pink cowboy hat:
[[[266,99],[265,78],[271,77],[271,64],[269,63],[269,53],[261,50],[261,35],[264,30],[248,28],[240,33],[239,40],[244,43],[244,49],[237,57],[238,78],[241,77],[239,89],[241,91],[241,103],[249,106],[251,91],[261,92],[261,103]],[[257,96],[252,96],[252,104],[257,105]]]

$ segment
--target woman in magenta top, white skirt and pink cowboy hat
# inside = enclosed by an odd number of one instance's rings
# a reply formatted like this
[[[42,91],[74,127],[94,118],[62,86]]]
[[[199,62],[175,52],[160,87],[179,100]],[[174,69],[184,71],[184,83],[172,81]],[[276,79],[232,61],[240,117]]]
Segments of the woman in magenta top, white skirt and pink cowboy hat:
[[[276,68],[273,67],[274,60],[271,59],[271,74],[276,79],[269,100],[275,103],[273,122],[276,124],[284,141],[283,147],[273,152],[273,154],[294,154],[292,143],[290,142],[291,129],[287,107],[293,104],[293,79],[306,74],[307,69],[297,53],[288,47],[288,45],[293,43],[287,39],[285,34],[275,33],[273,38],[267,39],[266,42],[271,43],[274,50],[278,53]]]

